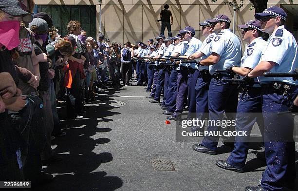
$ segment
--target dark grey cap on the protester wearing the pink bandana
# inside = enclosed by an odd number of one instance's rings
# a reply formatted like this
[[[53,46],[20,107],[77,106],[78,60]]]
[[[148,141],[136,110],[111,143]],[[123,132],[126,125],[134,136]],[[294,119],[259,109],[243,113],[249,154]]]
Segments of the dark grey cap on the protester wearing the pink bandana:
[[[32,15],[21,8],[18,0],[0,0],[0,9],[11,16],[22,16],[24,22],[31,22]]]

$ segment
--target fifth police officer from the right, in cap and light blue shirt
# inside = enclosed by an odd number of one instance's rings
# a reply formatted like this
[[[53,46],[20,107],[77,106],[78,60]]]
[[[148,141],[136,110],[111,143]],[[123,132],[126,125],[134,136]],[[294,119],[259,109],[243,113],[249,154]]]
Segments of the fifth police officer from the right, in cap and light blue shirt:
[[[195,30],[191,26],[186,26],[184,29],[179,31],[183,37],[184,40],[188,41],[188,44],[186,46],[186,52],[183,56],[180,57],[188,57],[192,55],[193,53],[197,52],[199,48],[202,46],[202,41],[195,38]],[[177,102],[176,102],[176,110],[174,113],[170,116],[167,116],[167,119],[169,120],[181,120],[181,114],[184,106],[184,102],[186,101],[187,96],[187,80],[188,80],[188,71],[187,66],[189,64],[187,63],[181,63],[180,67],[181,70],[178,73],[177,76]],[[189,65],[192,69],[196,69],[196,66]],[[192,87],[194,89],[195,85]],[[195,91],[191,91],[195,92]],[[194,93],[195,94],[195,93]]]

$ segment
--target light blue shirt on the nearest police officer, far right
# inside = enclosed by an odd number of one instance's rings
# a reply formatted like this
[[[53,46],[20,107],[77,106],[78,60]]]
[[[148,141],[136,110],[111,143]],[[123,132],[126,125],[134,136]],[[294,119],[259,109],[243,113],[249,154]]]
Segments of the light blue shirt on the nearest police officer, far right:
[[[261,53],[261,61],[275,62],[270,72],[293,72],[298,67],[298,46],[296,39],[283,25],[279,26],[270,36]],[[292,77],[258,77],[261,84],[272,81],[287,82],[298,85]]]

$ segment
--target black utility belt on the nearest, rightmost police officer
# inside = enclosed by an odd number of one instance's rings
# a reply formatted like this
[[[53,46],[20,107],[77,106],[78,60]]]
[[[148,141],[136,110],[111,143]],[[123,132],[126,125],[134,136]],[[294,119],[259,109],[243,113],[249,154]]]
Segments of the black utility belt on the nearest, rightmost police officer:
[[[268,84],[261,84],[261,87],[270,89],[278,95],[282,95],[284,99],[289,99],[288,94],[292,93],[297,88],[295,85],[280,81],[272,81]]]

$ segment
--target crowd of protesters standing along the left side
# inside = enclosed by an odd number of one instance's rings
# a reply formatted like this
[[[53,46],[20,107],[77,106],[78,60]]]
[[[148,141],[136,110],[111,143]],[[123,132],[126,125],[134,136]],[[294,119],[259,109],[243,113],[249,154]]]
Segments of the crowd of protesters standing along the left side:
[[[133,71],[120,62],[121,43],[88,36],[77,20],[62,37],[47,13],[32,14],[34,6],[0,0],[0,180],[30,180],[33,187],[53,180],[43,164],[63,160],[51,147],[67,136],[56,104],[66,102],[69,120],[83,118],[84,103]]]

